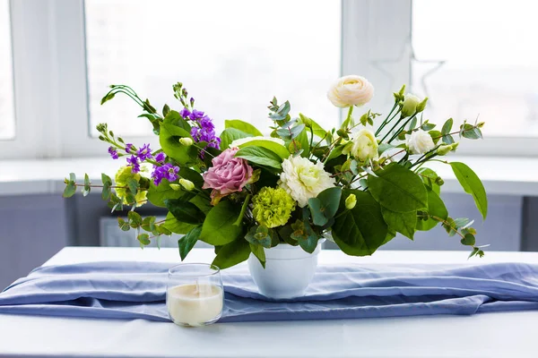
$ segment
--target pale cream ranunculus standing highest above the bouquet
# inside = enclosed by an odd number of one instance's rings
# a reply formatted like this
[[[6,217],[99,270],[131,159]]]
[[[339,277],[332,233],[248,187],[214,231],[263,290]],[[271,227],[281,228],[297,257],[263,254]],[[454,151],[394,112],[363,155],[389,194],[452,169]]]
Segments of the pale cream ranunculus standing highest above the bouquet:
[[[343,76],[327,92],[327,98],[336,107],[362,106],[374,97],[374,86],[357,75]]]

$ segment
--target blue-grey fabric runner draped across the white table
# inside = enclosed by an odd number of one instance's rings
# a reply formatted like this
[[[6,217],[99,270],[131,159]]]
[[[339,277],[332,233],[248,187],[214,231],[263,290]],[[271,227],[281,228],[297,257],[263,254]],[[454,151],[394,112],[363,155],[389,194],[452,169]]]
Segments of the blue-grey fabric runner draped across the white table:
[[[0,294],[0,313],[169,321],[174,264],[93,262],[40,267]],[[275,301],[246,268],[222,272],[221,322],[331,320],[538,310],[538,265],[320,266],[307,294]]]

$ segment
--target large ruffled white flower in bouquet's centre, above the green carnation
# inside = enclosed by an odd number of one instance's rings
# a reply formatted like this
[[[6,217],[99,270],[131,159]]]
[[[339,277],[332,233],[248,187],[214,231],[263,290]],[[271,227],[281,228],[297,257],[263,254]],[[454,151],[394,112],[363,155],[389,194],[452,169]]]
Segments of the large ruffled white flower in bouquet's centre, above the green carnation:
[[[279,186],[289,192],[291,198],[297,200],[299,207],[304,208],[308,199],[334,186],[334,178],[323,168],[323,163],[316,164],[307,158],[290,156],[282,162]]]

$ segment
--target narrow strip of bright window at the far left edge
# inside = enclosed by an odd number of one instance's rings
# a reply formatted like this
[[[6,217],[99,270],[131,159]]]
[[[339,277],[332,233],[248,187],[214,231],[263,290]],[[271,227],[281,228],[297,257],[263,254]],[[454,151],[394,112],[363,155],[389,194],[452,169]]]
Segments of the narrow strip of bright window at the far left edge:
[[[15,137],[9,1],[0,0],[0,140]]]

